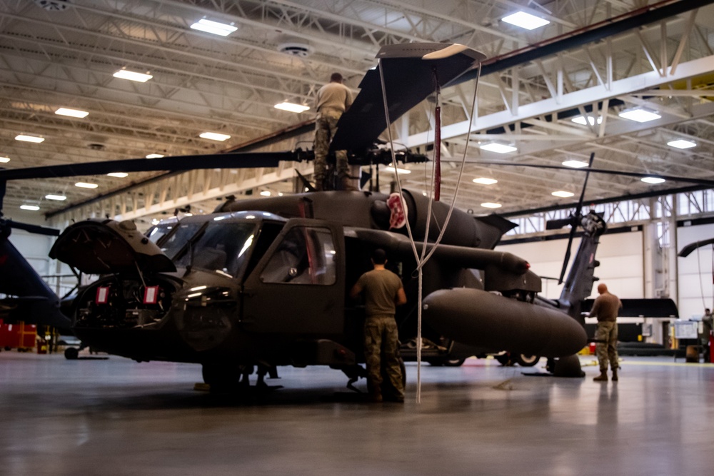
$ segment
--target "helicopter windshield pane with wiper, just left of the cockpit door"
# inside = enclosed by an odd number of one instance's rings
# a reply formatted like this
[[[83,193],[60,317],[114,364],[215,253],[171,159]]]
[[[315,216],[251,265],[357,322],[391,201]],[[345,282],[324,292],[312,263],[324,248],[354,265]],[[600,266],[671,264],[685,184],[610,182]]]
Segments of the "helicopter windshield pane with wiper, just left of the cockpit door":
[[[255,222],[208,223],[201,237],[183,248],[174,263],[177,267],[191,265],[237,278],[248,262],[248,250],[253,245],[256,231]]]

